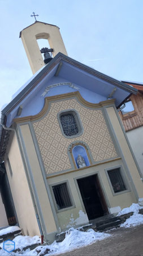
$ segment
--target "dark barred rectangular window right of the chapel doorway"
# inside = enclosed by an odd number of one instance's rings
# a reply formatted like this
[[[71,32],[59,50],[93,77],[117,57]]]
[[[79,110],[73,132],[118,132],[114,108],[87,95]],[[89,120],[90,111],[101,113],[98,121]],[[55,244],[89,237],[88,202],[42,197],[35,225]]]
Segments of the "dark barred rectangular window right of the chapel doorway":
[[[108,175],[115,193],[126,190],[120,168],[108,171]]]

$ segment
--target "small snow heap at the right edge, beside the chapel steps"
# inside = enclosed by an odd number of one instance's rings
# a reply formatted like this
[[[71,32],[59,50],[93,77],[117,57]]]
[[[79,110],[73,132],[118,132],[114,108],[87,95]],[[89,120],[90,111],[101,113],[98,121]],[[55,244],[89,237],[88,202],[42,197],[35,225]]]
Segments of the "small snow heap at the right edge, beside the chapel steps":
[[[143,215],[138,213],[138,210],[142,209],[143,207],[140,207],[139,204],[132,204],[131,207],[124,208],[123,210],[120,210],[118,213],[118,216],[133,212],[133,215],[120,225],[120,227],[124,228],[130,228],[131,226],[137,226],[140,224],[143,224]]]

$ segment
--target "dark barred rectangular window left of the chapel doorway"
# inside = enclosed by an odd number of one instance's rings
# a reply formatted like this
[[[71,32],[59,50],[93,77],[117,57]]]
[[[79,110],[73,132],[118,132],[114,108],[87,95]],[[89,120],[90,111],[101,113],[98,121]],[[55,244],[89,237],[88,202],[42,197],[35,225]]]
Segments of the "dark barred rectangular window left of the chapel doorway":
[[[58,210],[72,206],[70,195],[67,189],[67,183],[55,185],[52,188]]]

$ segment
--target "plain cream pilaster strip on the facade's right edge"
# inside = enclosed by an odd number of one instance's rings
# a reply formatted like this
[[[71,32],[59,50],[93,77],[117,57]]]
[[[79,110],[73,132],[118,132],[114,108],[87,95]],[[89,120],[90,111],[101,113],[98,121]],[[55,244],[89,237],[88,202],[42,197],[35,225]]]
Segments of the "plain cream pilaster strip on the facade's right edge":
[[[133,183],[135,184],[136,191],[138,193],[138,197],[140,199],[142,199],[142,197],[143,197],[143,183],[142,183],[141,177],[138,173],[135,160],[133,159],[131,151],[129,150],[129,146],[128,146],[127,141],[124,137],[122,127],[120,126],[120,123],[119,123],[119,120],[116,116],[114,108],[113,107],[107,108],[107,114],[109,116],[112,128],[114,129],[116,138],[118,139],[118,143],[120,145],[120,148],[122,149],[124,159],[127,163],[129,171],[132,175]]]

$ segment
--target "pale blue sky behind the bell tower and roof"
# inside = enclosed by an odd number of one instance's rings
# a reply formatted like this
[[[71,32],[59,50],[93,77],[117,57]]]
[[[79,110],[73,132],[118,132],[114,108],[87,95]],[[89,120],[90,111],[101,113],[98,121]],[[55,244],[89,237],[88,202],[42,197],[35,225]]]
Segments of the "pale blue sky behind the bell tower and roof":
[[[118,80],[143,82],[142,0],[0,0],[1,107],[32,71],[19,32],[38,21],[60,28],[68,56]]]

